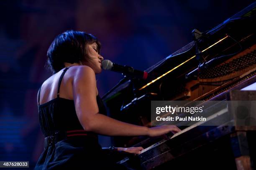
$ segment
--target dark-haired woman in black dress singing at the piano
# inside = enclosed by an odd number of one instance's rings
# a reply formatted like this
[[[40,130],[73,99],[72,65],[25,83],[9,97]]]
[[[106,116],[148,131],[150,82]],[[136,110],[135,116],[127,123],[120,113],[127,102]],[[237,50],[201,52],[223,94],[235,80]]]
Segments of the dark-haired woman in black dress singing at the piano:
[[[108,136],[159,136],[179,132],[176,126],[154,128],[120,122],[106,116],[95,74],[103,57],[100,42],[79,31],[57,36],[47,52],[53,75],[38,91],[38,112],[44,151],[35,169],[127,169],[112,162],[98,144],[97,134]],[[139,154],[142,147],[112,148]]]

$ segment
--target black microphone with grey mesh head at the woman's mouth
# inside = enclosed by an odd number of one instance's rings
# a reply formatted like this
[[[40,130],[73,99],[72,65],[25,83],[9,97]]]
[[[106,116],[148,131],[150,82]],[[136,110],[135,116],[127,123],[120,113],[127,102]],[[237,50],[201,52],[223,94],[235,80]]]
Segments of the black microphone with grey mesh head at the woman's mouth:
[[[134,77],[138,79],[146,80],[148,78],[148,73],[146,71],[136,70],[130,66],[121,66],[119,64],[112,63],[110,60],[103,60],[101,64],[102,69],[104,70],[115,71],[118,73],[122,73],[125,76]]]

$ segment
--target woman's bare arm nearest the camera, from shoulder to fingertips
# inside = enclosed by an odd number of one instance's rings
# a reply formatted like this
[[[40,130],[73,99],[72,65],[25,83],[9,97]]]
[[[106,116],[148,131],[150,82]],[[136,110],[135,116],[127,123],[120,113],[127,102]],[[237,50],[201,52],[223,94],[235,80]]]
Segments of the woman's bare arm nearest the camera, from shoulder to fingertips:
[[[99,114],[96,100],[96,79],[88,66],[77,66],[73,80],[73,96],[77,117],[86,131],[109,136],[159,136],[180,131],[176,126],[148,128],[121,122]]]

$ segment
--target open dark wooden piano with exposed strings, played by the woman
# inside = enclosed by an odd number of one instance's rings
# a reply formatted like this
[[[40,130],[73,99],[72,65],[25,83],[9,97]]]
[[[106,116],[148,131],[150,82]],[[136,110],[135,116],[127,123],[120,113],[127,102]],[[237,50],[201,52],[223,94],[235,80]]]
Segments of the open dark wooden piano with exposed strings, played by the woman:
[[[148,79],[120,80],[103,96],[110,116],[151,127],[151,101],[255,101],[255,14],[253,3],[212,30],[193,30],[194,41],[148,68]],[[225,122],[221,114],[230,109],[212,114],[218,126],[197,122],[163,137],[113,137],[115,146],[144,148],[117,161],[146,170],[256,169],[256,126]]]

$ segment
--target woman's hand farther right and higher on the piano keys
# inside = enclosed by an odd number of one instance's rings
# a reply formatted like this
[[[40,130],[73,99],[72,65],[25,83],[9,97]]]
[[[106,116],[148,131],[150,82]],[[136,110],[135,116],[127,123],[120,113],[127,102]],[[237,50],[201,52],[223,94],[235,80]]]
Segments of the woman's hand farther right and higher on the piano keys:
[[[163,134],[169,133],[169,132],[172,132],[175,134],[180,131],[181,131],[181,129],[179,129],[175,125],[162,125],[162,126],[149,128],[148,136],[157,137],[157,136],[161,136]]]

